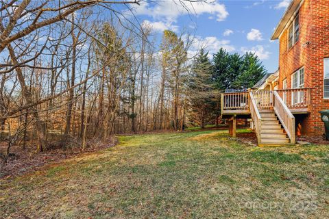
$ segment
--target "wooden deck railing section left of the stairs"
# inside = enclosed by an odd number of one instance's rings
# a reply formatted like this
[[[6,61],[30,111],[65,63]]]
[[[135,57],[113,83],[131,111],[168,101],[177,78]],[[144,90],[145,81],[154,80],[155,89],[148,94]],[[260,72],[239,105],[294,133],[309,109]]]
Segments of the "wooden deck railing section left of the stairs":
[[[221,107],[223,110],[249,110],[248,92],[225,93],[221,97]]]

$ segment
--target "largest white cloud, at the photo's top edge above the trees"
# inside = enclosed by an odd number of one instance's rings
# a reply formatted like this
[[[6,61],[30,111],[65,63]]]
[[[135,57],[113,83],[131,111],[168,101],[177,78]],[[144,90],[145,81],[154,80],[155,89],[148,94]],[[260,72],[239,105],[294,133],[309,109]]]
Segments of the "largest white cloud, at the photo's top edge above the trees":
[[[209,14],[215,17],[217,21],[223,21],[228,16],[225,5],[216,1],[181,3],[177,0],[159,1],[156,4],[142,1],[141,5],[136,6],[135,14],[151,16],[166,22],[176,22],[179,16],[186,14],[195,14],[196,16]]]

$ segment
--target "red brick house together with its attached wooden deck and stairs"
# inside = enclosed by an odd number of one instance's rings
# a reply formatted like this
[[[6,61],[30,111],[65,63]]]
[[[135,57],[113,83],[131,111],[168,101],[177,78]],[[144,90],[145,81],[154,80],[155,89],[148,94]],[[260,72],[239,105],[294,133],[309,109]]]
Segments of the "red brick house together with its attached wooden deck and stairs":
[[[252,118],[258,144],[294,144],[295,136],[321,136],[320,110],[329,109],[329,0],[293,0],[274,30],[279,69],[249,92],[222,94],[221,113]]]

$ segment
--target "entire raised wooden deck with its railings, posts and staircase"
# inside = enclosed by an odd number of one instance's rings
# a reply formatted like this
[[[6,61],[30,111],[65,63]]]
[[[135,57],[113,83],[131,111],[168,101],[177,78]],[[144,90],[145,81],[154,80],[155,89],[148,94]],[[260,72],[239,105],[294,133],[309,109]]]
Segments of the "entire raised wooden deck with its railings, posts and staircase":
[[[252,118],[258,145],[295,144],[293,114],[308,114],[310,100],[310,88],[224,93],[221,94],[221,115],[230,118],[233,137],[236,118]]]

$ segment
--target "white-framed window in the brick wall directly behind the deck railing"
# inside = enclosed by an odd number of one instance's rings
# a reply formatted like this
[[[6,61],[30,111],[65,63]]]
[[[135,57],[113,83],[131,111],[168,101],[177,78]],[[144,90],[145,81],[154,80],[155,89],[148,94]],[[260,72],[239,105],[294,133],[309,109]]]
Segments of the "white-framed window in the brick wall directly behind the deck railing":
[[[297,70],[293,75],[291,75],[291,88],[304,88],[304,67]],[[292,92],[291,104],[295,105],[297,103],[303,103],[304,101],[304,91],[294,91]]]

